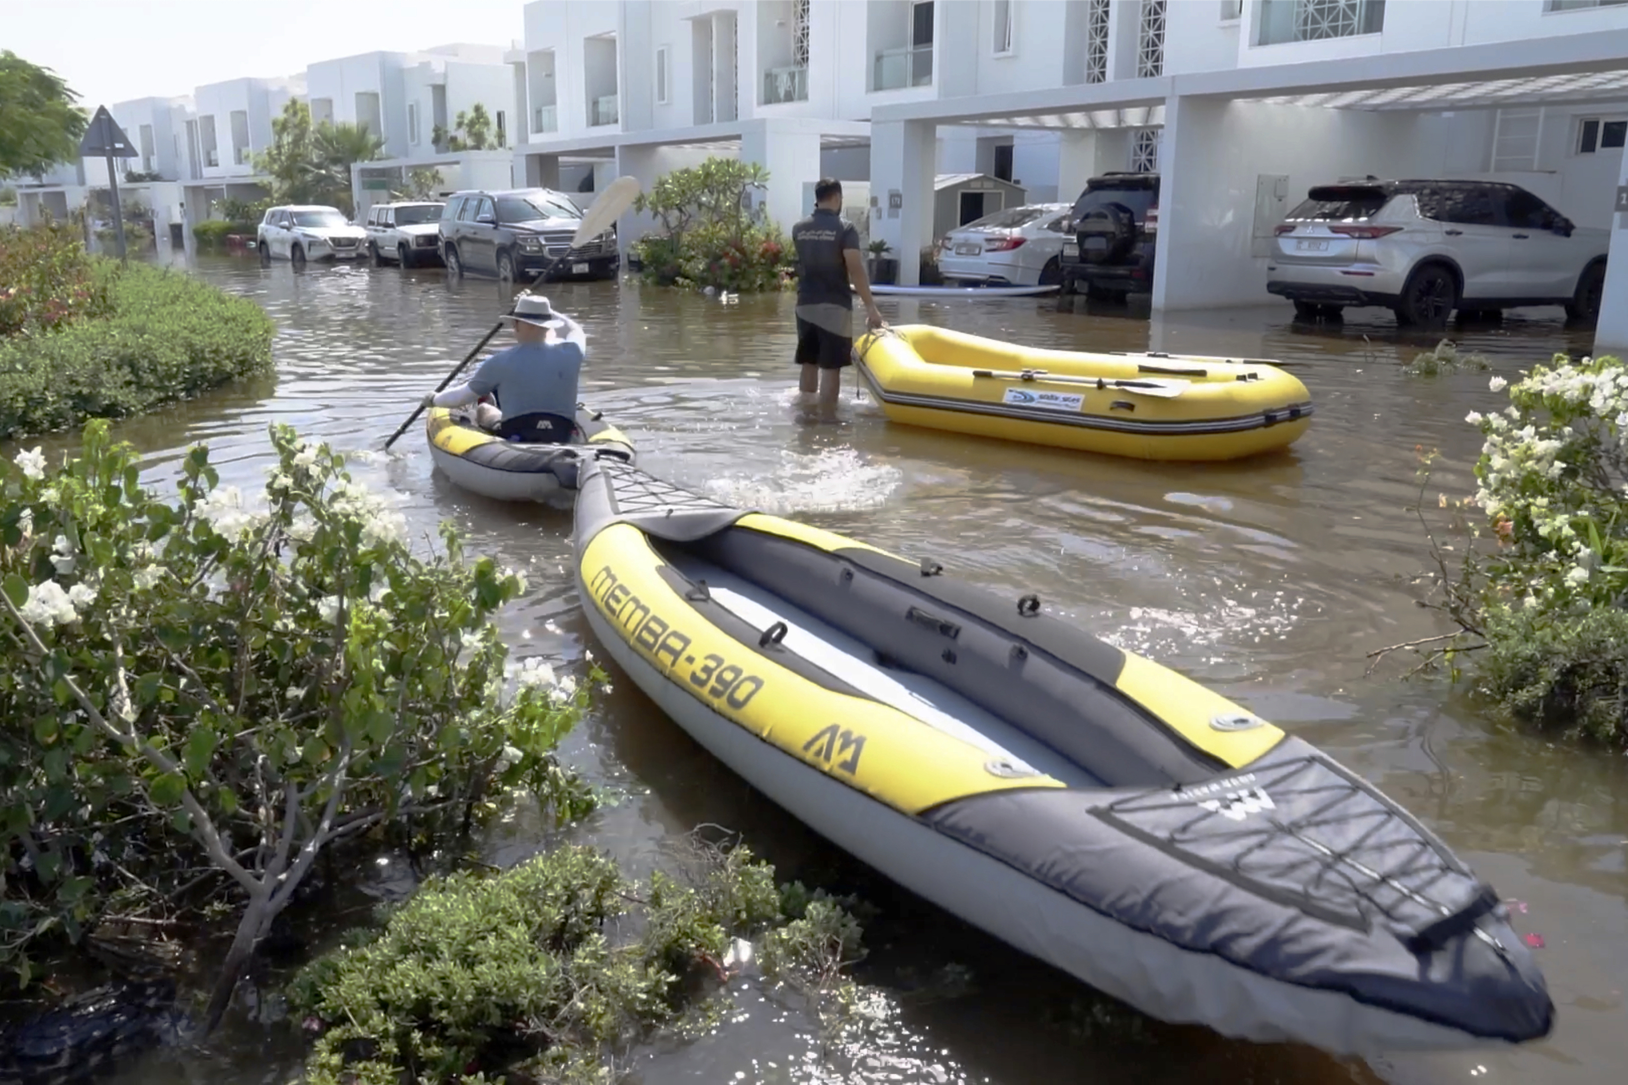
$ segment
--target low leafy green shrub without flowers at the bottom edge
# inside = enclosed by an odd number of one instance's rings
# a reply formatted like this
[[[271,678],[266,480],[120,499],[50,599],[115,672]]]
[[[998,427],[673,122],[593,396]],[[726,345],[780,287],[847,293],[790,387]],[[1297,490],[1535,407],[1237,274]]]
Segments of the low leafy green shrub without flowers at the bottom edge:
[[[306,1080],[607,1080],[604,1054],[679,1022],[731,935],[788,919],[773,869],[744,848],[692,882],[658,874],[641,895],[586,848],[427,882],[383,932],[353,932],[295,978],[290,1004],[326,1028]],[[822,947],[840,930],[838,956],[853,956],[858,927],[832,903],[801,922]],[[811,963],[798,934],[775,943],[785,968]]]

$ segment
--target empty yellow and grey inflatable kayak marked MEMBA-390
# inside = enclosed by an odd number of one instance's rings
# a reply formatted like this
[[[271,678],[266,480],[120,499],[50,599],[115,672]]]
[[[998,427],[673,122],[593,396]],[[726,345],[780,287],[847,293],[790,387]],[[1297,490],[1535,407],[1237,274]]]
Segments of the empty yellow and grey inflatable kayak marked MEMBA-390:
[[[700,745],[899,885],[1167,1022],[1340,1054],[1519,1043],[1498,895],[1312,745],[1047,613],[583,464],[578,589]]]

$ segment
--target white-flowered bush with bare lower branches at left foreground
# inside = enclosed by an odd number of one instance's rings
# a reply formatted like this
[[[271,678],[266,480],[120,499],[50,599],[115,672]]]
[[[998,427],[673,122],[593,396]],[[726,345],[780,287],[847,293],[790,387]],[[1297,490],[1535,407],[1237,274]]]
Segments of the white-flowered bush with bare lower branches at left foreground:
[[[524,581],[449,527],[412,555],[327,446],[272,444],[264,511],[204,447],[161,499],[106,421],[60,470],[0,462],[0,963],[24,983],[42,934],[226,900],[213,1028],[324,848],[508,794],[584,808],[554,747],[586,690],[527,660],[505,698],[490,617]]]

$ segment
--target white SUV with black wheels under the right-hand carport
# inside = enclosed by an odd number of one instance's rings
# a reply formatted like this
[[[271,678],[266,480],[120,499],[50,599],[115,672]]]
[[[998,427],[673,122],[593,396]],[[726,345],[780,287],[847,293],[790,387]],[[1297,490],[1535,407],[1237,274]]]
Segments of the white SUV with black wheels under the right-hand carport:
[[[1402,324],[1454,311],[1565,306],[1594,320],[1610,234],[1521,185],[1361,181],[1317,185],[1276,228],[1267,290],[1302,317],[1385,306]]]

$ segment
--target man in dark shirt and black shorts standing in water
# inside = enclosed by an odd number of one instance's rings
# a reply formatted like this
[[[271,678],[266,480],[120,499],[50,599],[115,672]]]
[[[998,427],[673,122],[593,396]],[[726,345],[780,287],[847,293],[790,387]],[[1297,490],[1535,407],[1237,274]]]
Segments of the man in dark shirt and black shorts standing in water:
[[[819,392],[822,413],[835,413],[842,369],[853,355],[853,294],[860,291],[866,324],[887,327],[871,298],[860,260],[860,231],[842,221],[842,182],[814,185],[814,213],[791,228],[798,249],[798,366],[804,394]]]

